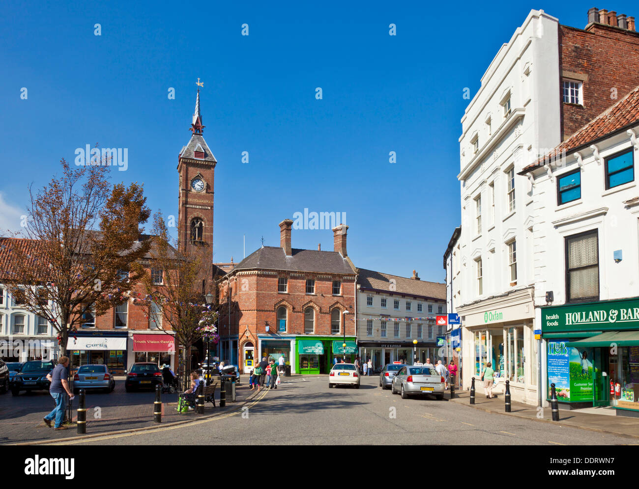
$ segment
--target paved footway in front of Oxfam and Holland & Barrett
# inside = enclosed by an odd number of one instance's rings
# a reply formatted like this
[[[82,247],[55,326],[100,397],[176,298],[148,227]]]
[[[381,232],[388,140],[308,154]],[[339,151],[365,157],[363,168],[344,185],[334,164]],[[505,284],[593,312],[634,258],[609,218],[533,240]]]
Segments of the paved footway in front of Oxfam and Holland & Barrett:
[[[447,391],[445,398],[450,400],[450,391]],[[516,418],[581,428],[582,430],[600,433],[610,433],[623,437],[639,438],[639,418],[629,418],[627,416],[614,416],[613,418],[611,414],[614,413],[606,408],[559,409],[559,421],[553,421],[550,407],[537,408],[537,406],[511,400],[511,412],[505,412],[505,400],[502,394],[498,394],[496,398],[488,399],[483,393],[477,391],[475,393],[475,404],[472,405],[470,404],[470,391],[455,391],[455,398],[452,399],[452,402]]]

